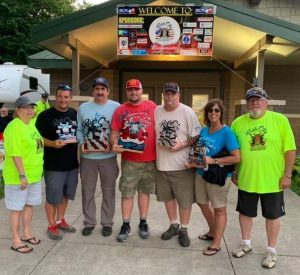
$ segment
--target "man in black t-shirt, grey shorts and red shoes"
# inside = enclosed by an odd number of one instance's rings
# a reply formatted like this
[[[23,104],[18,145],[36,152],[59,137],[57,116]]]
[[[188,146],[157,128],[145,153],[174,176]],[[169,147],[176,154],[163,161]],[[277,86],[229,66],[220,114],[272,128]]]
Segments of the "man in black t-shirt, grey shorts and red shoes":
[[[45,143],[47,233],[51,239],[59,240],[62,238],[59,229],[76,231],[65,221],[64,215],[68,200],[75,198],[78,184],[77,112],[69,107],[72,90],[68,85],[59,85],[55,98],[54,107],[37,117],[36,127]]]

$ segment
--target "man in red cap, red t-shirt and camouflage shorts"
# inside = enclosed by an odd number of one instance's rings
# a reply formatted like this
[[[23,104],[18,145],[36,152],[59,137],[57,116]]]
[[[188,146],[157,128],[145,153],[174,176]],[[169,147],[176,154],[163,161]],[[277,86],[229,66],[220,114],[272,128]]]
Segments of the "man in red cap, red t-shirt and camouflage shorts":
[[[142,84],[137,79],[126,83],[128,102],[114,113],[110,137],[113,151],[122,153],[121,208],[123,225],[117,241],[127,241],[130,235],[130,216],[134,195],[138,191],[140,211],[139,236],[150,237],[147,214],[150,194],[155,192],[155,134],[154,109],[150,100],[142,99]]]

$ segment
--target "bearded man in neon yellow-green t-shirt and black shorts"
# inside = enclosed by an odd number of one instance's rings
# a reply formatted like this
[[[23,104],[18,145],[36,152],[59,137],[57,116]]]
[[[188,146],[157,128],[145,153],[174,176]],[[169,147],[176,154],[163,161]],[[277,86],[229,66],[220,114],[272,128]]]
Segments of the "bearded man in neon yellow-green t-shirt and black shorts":
[[[267,110],[267,93],[251,88],[246,93],[248,113],[235,119],[232,130],[241,146],[238,167],[238,203],[242,244],[233,250],[240,258],[252,250],[252,219],[257,216],[258,200],[266,219],[267,252],[262,266],[276,265],[276,243],[280,229],[279,218],[285,215],[283,191],[291,185],[295,161],[295,139],[288,119]]]

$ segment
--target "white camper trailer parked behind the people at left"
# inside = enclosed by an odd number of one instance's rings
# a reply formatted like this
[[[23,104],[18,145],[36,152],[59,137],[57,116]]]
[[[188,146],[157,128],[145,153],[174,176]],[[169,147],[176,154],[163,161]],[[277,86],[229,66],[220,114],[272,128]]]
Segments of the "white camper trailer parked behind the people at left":
[[[41,94],[50,91],[50,76],[26,65],[0,65],[0,107],[12,105],[22,92],[33,90],[28,96],[38,101]]]

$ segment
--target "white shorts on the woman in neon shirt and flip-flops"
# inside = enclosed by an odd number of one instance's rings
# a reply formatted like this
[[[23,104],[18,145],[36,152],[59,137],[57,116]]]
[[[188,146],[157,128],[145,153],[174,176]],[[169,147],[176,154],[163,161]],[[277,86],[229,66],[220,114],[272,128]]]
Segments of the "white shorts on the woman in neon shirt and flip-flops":
[[[28,184],[27,188],[21,190],[18,185],[5,185],[5,206],[8,210],[22,211],[25,204],[40,205],[42,203],[42,184],[36,182]]]

